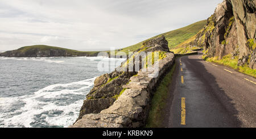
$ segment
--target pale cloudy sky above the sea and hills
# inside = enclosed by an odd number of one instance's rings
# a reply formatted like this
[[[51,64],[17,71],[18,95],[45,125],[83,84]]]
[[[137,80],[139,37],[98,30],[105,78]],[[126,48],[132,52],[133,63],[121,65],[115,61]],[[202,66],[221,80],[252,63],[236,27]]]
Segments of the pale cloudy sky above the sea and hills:
[[[222,0],[1,0],[0,50],[109,50],[209,18]]]

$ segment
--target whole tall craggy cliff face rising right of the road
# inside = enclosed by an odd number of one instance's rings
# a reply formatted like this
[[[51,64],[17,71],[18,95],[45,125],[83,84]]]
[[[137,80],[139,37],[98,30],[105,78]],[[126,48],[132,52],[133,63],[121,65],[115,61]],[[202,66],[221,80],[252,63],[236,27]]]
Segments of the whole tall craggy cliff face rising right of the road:
[[[204,47],[207,57],[231,54],[239,66],[256,69],[255,14],[255,0],[224,0],[189,45]]]

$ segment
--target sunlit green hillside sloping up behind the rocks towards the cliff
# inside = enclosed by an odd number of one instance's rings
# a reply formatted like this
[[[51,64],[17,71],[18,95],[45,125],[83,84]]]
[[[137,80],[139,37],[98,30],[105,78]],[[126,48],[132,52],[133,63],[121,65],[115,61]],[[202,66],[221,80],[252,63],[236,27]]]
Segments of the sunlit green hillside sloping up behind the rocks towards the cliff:
[[[201,20],[200,22],[190,24],[189,26],[179,28],[174,31],[162,33],[155,37],[159,37],[162,35],[165,36],[166,40],[168,41],[168,47],[170,49],[173,49],[173,48],[177,47],[177,45],[179,45],[179,44],[183,43],[184,41],[188,40],[189,38],[195,36],[196,33],[199,32],[205,26],[206,23],[207,23],[207,20]],[[151,37],[150,39],[155,38],[155,37]],[[147,39],[147,40],[149,40],[149,39]],[[144,41],[146,41],[146,40],[144,40]],[[135,45],[131,45],[130,47],[119,49],[118,51],[127,53],[130,50],[130,52],[133,52],[134,50],[141,48],[142,43],[144,41],[142,41],[141,43],[135,44]]]

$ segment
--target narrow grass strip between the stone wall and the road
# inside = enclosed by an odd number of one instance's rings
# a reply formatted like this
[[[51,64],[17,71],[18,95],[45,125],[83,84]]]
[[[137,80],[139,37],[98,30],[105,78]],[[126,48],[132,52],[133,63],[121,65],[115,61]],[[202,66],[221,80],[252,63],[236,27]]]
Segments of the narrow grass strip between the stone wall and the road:
[[[172,81],[172,74],[174,73],[176,64],[163,78],[162,82],[155,91],[151,100],[150,112],[147,118],[146,128],[158,128],[163,123],[163,109],[166,106],[166,99],[168,98],[168,86]]]

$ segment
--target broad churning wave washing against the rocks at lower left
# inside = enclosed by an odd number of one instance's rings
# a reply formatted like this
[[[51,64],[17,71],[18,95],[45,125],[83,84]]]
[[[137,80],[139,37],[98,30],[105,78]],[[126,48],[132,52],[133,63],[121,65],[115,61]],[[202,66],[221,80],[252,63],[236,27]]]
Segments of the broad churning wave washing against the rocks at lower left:
[[[36,91],[33,95],[0,98],[0,127],[68,127],[72,125],[95,79],[96,77],[79,82],[50,85]],[[19,104],[20,108],[10,111],[13,106],[19,106]]]

